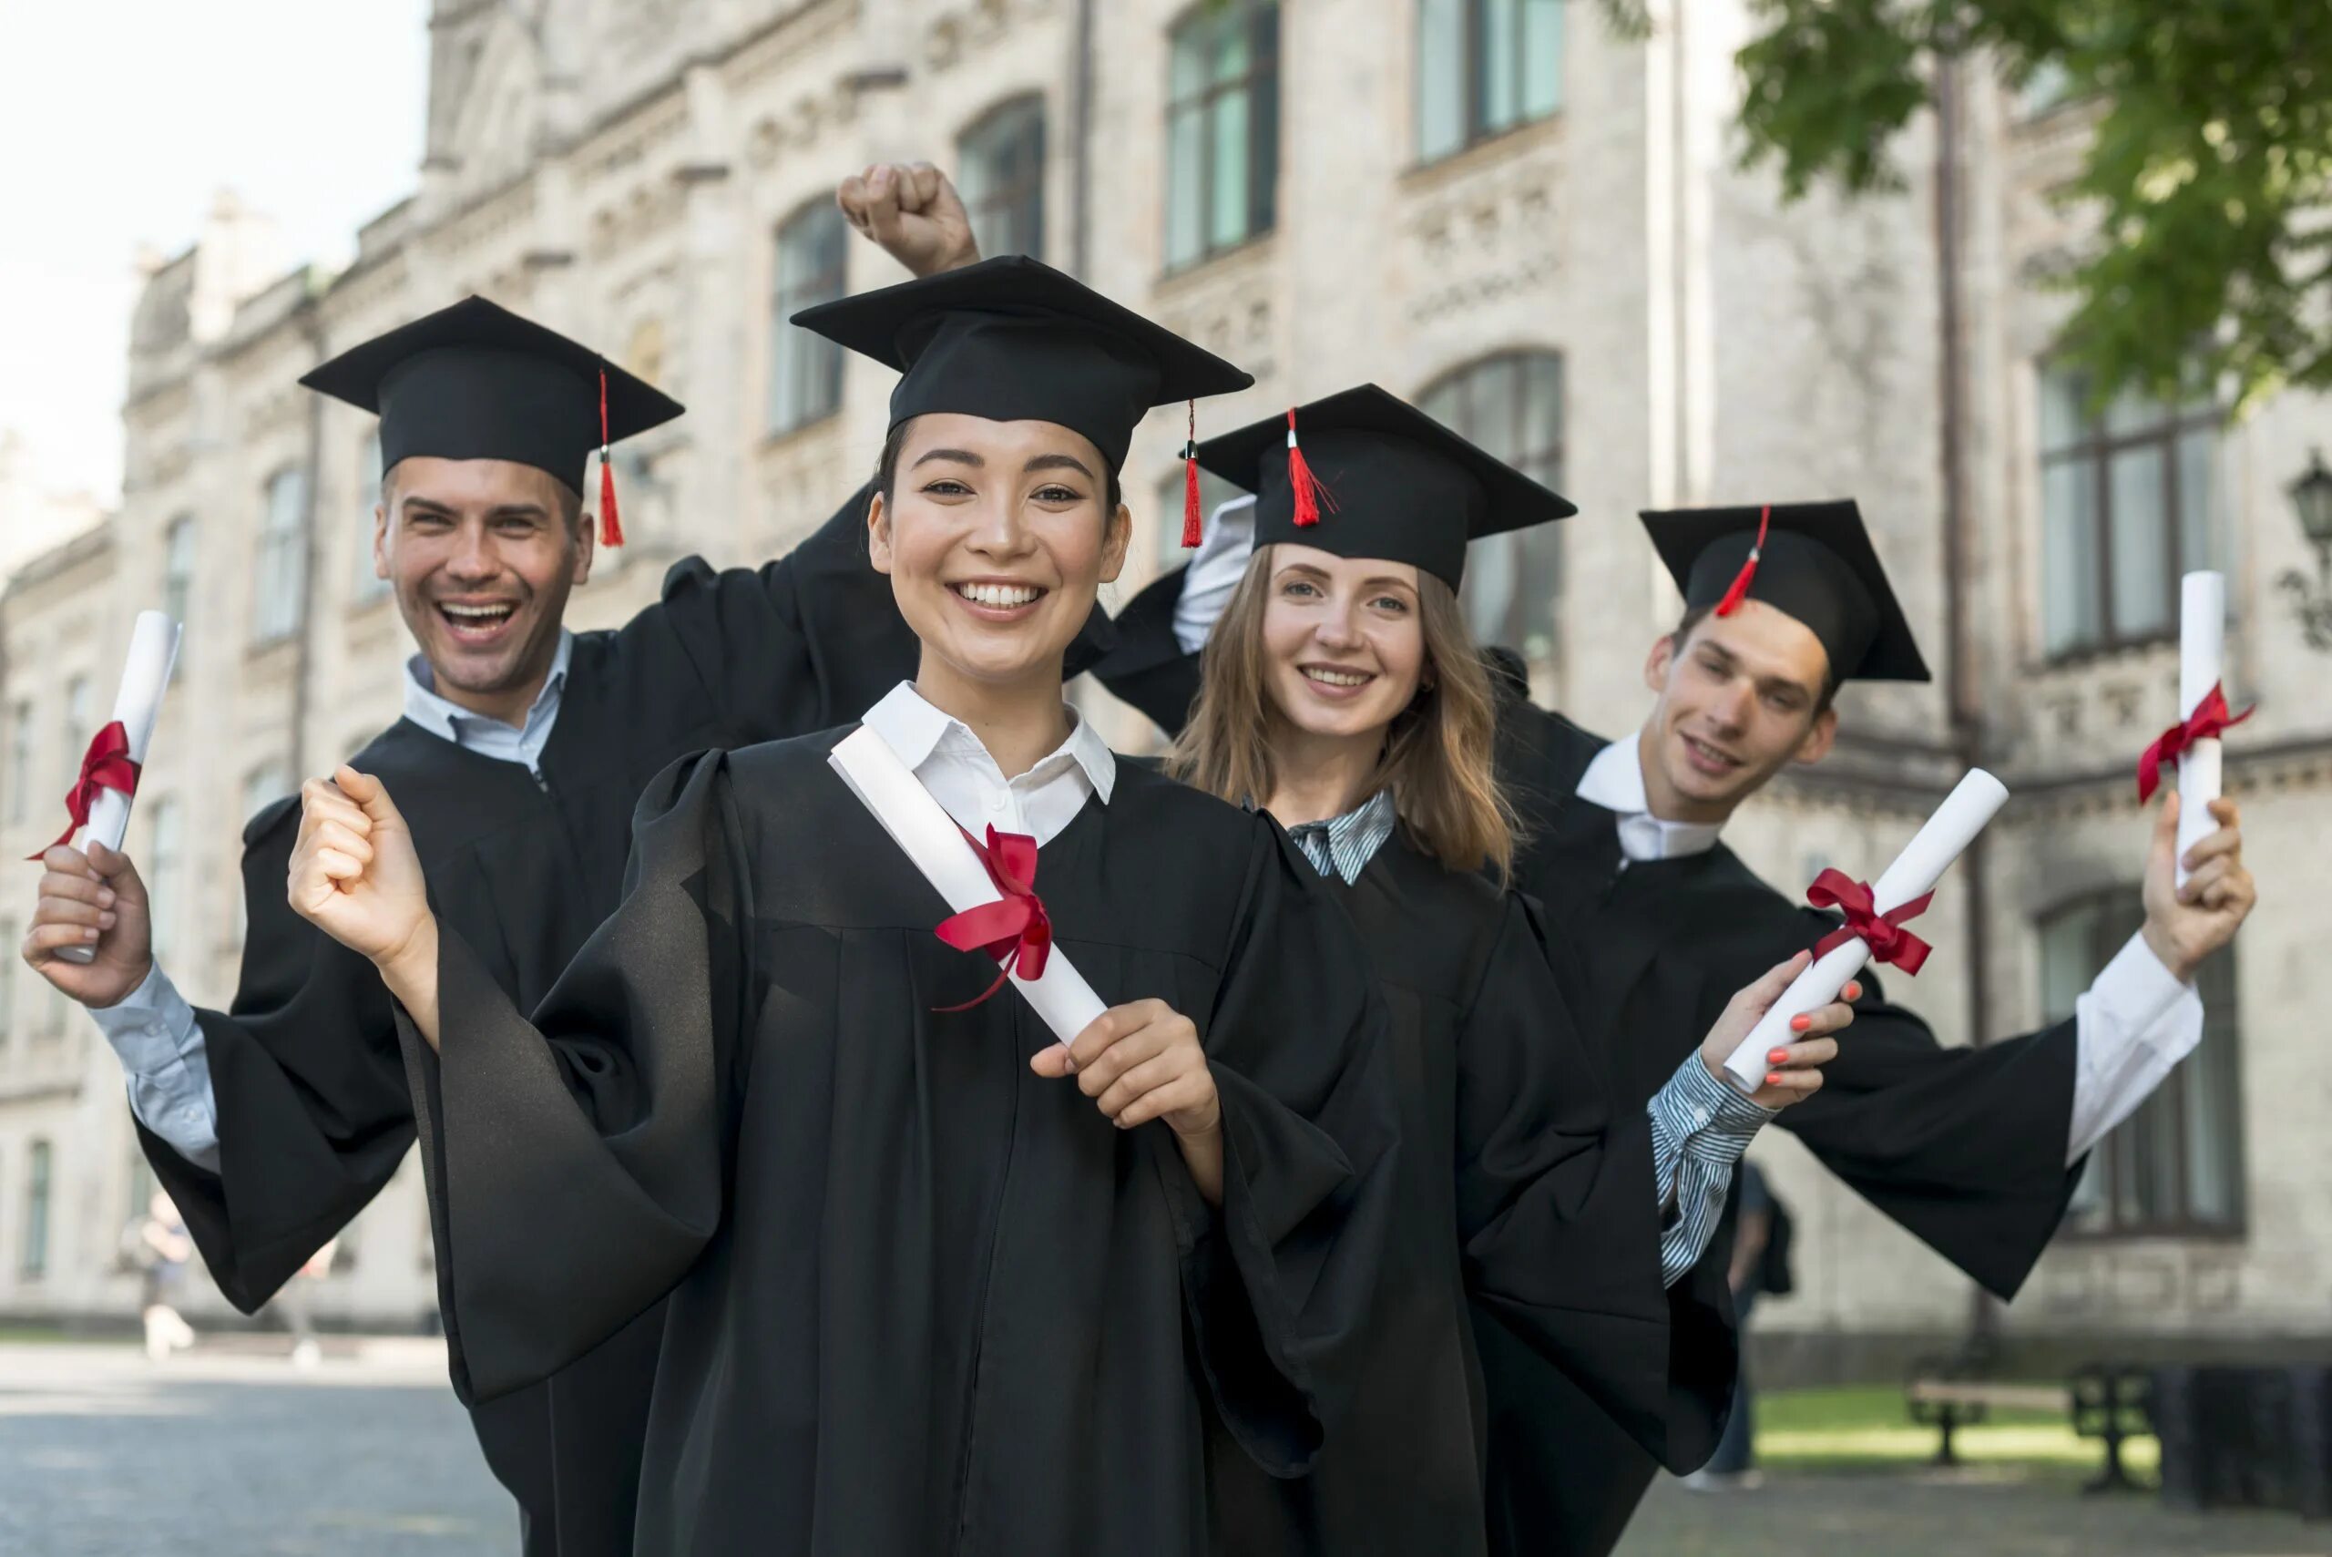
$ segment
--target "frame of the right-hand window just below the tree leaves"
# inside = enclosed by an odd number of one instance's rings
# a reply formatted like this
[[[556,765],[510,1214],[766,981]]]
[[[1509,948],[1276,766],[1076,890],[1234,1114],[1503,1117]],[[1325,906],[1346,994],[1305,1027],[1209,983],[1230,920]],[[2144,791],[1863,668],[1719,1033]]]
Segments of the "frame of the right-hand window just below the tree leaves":
[[[2075,403],[2080,406],[2080,431],[2073,441],[2052,448],[2047,443],[2047,396],[2052,378],[2075,380]],[[2059,361],[2043,359],[2036,373],[2036,410],[2034,410],[2034,482],[2038,492],[2038,517],[2040,534],[2036,555],[2040,557],[2040,653],[2047,664],[2078,664],[2082,660],[2094,660],[2103,655],[2117,655],[2134,648],[2152,648],[2157,643],[2173,643],[2178,639],[2178,580],[2185,576],[2185,492],[2180,489],[2180,459],[2178,445],[2187,434],[2208,431],[2213,441],[2227,429],[2227,413],[2220,408],[2218,396],[2201,399],[2192,406],[2171,406],[2148,396],[2150,410],[2162,413],[2159,420],[2148,422],[2138,431],[2115,434],[2106,427],[2106,413],[2089,410],[2087,399],[2087,375],[2061,366]],[[2108,408],[2110,410],[2110,408]],[[2152,450],[2162,462],[2162,578],[2164,578],[2164,601],[2162,601],[2162,625],[2145,632],[2122,632],[2115,622],[2113,611],[2113,462],[2122,455]],[[2096,632],[2092,636],[2075,636],[2061,648],[2050,646],[2050,620],[2047,620],[2047,536],[2050,536],[2050,508],[2047,508],[2047,478],[2050,471],[2059,466],[2080,466],[2089,473],[2089,527],[2085,543],[2092,552],[2089,587],[2096,590]],[[2215,496],[2215,494],[2211,494]],[[2220,515],[2206,510],[2206,524],[2211,538],[2220,538]]]

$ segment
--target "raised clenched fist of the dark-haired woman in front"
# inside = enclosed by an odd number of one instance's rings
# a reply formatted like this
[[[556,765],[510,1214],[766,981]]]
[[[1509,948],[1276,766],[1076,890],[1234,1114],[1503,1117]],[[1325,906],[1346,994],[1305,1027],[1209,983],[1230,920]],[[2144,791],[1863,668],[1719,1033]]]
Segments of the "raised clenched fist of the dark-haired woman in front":
[[[413,832],[371,774],[340,767],[301,785],[298,841],[287,881],[292,909],[357,951],[399,995],[401,981],[436,984],[436,916]]]

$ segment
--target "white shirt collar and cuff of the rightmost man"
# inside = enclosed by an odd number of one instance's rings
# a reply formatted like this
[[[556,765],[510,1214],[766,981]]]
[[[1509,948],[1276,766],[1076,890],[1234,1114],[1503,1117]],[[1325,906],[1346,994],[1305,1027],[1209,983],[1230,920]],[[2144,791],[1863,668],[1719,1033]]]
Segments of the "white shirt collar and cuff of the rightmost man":
[[[1723,823],[1670,823],[1651,813],[1639,737],[1611,741],[1579,776],[1579,799],[1616,816],[1628,862],[1674,860],[1716,848]],[[1852,1042],[1852,1030],[1847,1035]],[[2073,1002],[2073,1116],[2066,1165],[2141,1102],[2201,1042],[2201,995],[2162,965],[2143,935],[2131,935]]]

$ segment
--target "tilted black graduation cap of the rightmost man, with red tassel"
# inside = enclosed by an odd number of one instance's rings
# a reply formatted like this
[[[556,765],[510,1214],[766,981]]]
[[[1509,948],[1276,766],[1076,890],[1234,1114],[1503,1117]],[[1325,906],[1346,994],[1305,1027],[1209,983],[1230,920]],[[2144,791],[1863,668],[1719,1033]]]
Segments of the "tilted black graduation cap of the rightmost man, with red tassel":
[[[1929,681],[1854,499],[1644,513],[1686,606],[1758,599],[1821,641],[1833,681]]]

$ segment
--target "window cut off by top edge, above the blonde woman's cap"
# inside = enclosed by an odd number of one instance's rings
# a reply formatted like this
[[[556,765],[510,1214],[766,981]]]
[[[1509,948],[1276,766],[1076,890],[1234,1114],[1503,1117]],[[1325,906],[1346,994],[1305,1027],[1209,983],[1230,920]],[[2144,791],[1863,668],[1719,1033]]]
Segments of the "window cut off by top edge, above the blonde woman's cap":
[[[1418,161],[1562,107],[1569,0],[1418,0]]]

